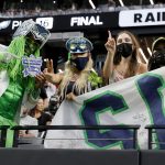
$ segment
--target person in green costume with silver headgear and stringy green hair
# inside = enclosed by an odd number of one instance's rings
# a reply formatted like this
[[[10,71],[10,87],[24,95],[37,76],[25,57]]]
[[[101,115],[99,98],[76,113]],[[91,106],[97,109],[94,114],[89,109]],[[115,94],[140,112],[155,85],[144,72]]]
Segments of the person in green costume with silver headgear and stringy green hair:
[[[45,81],[42,73],[24,76],[23,57],[40,57],[40,50],[50,37],[50,32],[33,20],[24,21],[13,34],[9,46],[0,45],[0,125],[19,124],[21,105],[33,108],[40,97],[40,87]],[[6,146],[12,146],[11,130]]]

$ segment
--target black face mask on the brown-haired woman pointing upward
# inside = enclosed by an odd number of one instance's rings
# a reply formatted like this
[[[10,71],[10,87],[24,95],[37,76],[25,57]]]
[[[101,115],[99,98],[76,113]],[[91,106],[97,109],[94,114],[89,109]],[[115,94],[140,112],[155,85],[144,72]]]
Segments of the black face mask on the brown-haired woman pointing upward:
[[[117,45],[117,53],[124,58],[129,57],[132,54],[132,44],[122,43],[120,45]]]

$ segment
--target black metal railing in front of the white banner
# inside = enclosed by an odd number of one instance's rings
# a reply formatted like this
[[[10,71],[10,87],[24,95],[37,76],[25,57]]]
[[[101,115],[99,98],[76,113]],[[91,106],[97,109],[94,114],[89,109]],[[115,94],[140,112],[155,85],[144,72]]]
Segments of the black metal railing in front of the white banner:
[[[132,146],[133,148],[138,148],[138,130],[140,129],[140,125],[28,125],[28,127],[22,127],[22,125],[16,125],[10,128],[9,125],[1,125],[1,134],[0,134],[0,147],[6,146],[6,139],[7,139],[7,131],[8,130],[13,130],[14,135],[13,135],[13,147],[18,147],[20,143],[20,138],[19,138],[19,131],[20,130],[132,130],[132,138],[129,139],[129,141],[132,141]],[[145,129],[147,129],[148,132],[148,150],[153,148],[153,144],[155,144],[155,141],[153,141],[153,135],[156,131],[162,131],[163,134],[165,134],[165,125],[154,125],[150,124],[146,125]],[[164,132],[163,132],[164,131]],[[44,139],[31,139],[31,142],[34,141],[34,143],[37,143],[40,141],[40,144]],[[116,139],[120,140],[120,138]],[[156,142],[157,143],[157,142]],[[160,145],[165,145],[165,140],[162,142],[158,142]]]

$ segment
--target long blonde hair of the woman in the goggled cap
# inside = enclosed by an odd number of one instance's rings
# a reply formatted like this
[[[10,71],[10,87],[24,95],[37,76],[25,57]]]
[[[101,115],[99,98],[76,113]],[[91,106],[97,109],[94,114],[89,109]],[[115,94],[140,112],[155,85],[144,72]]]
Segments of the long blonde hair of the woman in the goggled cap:
[[[86,92],[87,88],[88,88],[88,76],[89,73],[92,68],[92,59],[91,59],[91,55],[89,54],[89,61],[85,67],[84,70],[81,70],[79,73],[78,78],[75,81],[75,85],[73,87],[73,91],[74,89],[76,89],[76,91],[80,95],[81,92]],[[76,68],[70,64],[70,61],[67,61],[66,65],[65,65],[65,73],[64,73],[64,77],[62,79],[62,82],[59,85],[59,96],[64,99],[66,96],[66,91],[67,91],[67,87],[69,81],[72,81],[72,78],[74,77],[74,75],[76,74]]]

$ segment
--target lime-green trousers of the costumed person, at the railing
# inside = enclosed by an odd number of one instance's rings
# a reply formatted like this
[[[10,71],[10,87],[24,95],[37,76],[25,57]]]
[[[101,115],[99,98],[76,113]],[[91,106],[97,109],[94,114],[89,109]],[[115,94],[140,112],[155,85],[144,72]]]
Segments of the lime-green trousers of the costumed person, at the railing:
[[[16,125],[12,120],[6,119],[0,116],[0,125],[10,125],[11,128]],[[6,147],[12,147],[13,144],[13,130],[8,130],[7,132],[7,141],[6,141]]]

